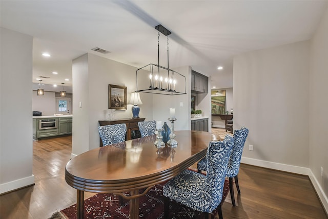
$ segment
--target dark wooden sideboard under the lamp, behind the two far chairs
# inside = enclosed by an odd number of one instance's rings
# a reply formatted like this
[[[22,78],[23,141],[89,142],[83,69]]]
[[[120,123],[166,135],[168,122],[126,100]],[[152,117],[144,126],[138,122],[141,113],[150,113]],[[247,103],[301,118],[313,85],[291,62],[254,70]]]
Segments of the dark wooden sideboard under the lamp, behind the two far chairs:
[[[146,118],[120,118],[118,120],[101,120],[98,121],[100,126],[114,125],[125,123],[127,125],[126,141],[141,137],[139,132],[138,122],[144,122]],[[136,132],[138,132],[136,134]],[[134,133],[134,134],[132,134]],[[103,146],[103,141],[100,141],[100,147]]]

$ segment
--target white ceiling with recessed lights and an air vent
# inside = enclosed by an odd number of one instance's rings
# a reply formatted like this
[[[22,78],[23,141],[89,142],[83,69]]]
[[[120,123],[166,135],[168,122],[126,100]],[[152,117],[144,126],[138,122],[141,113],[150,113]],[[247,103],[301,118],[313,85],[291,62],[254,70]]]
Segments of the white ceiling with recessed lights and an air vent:
[[[99,47],[135,67],[157,63],[157,30],[169,29],[170,68],[189,65],[232,87],[232,58],[310,39],[328,1],[3,1],[1,27],[33,36],[33,82],[72,85],[72,59]],[[18,51],[17,51],[18,52]],[[43,57],[49,52],[51,57]],[[160,65],[167,66],[160,36]],[[223,66],[223,70],[217,70]],[[58,74],[52,74],[57,71]],[[135,75],[135,72],[131,72]],[[69,82],[64,81],[69,78]]]

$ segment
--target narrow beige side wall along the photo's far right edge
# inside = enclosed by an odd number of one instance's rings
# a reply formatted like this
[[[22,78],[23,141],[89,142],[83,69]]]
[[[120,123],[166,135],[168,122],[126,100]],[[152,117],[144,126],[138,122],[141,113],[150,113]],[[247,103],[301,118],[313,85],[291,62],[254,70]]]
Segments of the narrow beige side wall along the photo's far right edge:
[[[328,211],[328,9],[311,39],[310,57],[310,169],[324,194],[321,200],[325,200],[323,204]]]

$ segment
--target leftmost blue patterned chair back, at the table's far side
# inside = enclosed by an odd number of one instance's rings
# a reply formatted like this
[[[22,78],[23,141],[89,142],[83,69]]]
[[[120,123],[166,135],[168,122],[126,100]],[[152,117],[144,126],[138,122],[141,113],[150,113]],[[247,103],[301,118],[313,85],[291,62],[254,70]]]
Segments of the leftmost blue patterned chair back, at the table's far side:
[[[115,124],[107,126],[99,126],[99,135],[103,145],[112,145],[125,141],[125,135],[127,133],[126,124]]]

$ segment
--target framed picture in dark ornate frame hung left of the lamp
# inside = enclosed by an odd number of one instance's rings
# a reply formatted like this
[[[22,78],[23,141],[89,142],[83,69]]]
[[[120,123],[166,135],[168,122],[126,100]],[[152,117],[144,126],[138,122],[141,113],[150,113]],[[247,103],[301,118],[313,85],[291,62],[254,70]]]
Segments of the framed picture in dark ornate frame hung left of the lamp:
[[[127,87],[108,85],[108,109],[127,109]]]

